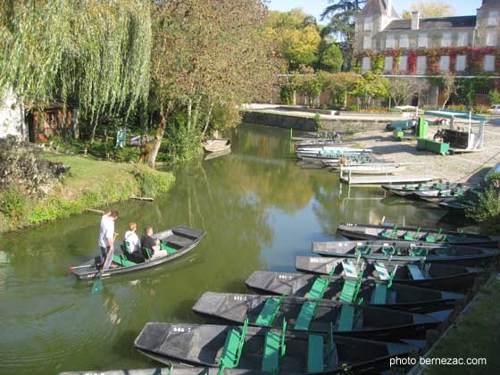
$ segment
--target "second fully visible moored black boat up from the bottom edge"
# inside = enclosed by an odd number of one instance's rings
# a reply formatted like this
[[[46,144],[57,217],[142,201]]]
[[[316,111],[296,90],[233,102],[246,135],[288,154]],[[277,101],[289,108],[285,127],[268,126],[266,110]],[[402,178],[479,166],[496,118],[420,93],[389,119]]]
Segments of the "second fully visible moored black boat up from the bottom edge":
[[[432,315],[401,312],[381,307],[341,304],[297,296],[258,296],[205,292],[193,311],[229,323],[279,329],[285,319],[289,329],[333,332],[348,337],[385,341],[425,338],[427,329],[436,329],[446,319]]]

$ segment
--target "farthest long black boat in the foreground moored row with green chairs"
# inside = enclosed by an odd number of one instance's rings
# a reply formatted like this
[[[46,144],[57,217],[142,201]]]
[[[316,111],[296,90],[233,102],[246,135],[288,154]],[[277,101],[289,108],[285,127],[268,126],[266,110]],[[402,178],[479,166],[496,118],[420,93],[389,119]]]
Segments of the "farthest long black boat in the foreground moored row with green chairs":
[[[351,239],[409,241],[462,246],[498,246],[499,237],[444,229],[398,227],[397,225],[342,222],[337,233]]]

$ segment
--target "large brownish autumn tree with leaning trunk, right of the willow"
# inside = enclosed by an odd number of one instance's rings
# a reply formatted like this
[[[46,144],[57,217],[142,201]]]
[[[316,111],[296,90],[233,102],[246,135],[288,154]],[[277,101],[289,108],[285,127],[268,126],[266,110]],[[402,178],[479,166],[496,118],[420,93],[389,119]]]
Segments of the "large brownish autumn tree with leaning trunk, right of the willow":
[[[270,97],[278,73],[262,37],[261,0],[172,0],[153,8],[152,99],[159,121],[140,158],[150,166],[172,112],[185,119],[177,121],[183,137],[196,139],[214,123],[215,109]]]

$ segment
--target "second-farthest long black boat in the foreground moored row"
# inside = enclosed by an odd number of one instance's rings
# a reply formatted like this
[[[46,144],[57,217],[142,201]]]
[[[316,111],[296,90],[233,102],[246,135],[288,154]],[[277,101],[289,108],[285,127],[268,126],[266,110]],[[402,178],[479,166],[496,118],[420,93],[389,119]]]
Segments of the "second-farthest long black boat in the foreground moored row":
[[[494,260],[500,252],[476,246],[408,241],[328,241],[313,242],[312,253],[323,256],[429,263],[481,265]]]

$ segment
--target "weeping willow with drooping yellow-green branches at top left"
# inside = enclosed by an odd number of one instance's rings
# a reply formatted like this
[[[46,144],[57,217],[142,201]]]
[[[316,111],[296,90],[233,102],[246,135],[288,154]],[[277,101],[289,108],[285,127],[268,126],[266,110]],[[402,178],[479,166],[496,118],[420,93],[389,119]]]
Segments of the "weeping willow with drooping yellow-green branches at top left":
[[[29,109],[61,100],[94,123],[129,111],[149,92],[147,0],[0,2],[0,92]]]

